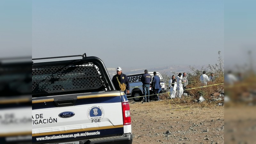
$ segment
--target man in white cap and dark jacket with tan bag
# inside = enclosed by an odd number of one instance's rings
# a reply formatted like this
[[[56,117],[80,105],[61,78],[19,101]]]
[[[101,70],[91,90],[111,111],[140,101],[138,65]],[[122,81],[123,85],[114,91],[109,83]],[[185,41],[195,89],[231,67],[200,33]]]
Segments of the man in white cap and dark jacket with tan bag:
[[[112,78],[112,82],[116,88],[116,90],[119,90],[120,91],[120,87],[119,87],[119,83],[118,83],[118,80],[120,82],[120,84],[125,84],[126,85],[126,88],[124,90],[124,94],[126,95],[126,91],[127,91],[127,94],[130,92],[130,84],[129,84],[129,79],[128,77],[122,73],[122,68],[118,67],[116,68],[116,75],[113,76]]]

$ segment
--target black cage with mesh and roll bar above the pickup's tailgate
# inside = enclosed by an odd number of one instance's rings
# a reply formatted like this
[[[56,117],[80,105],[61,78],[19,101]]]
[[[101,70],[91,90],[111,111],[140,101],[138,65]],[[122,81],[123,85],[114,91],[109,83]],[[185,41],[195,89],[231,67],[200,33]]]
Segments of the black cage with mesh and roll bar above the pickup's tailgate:
[[[82,56],[80,60],[32,61],[32,97],[115,90],[107,68],[98,57],[83,55],[36,58],[33,60]]]

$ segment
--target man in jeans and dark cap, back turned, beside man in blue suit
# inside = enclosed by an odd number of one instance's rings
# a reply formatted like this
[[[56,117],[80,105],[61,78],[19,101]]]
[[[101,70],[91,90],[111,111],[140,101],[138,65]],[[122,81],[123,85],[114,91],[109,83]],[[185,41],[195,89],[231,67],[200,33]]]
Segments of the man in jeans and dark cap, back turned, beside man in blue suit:
[[[143,94],[145,96],[143,102],[149,102],[149,84],[152,77],[150,74],[148,74],[147,69],[144,70],[144,74],[141,76],[140,80],[142,82]]]

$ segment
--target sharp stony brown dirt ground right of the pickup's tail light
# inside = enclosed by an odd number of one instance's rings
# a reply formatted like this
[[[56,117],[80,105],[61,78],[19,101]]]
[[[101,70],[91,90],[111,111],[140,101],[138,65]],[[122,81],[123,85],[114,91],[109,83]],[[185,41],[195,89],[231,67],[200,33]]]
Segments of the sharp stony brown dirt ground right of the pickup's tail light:
[[[130,110],[133,144],[224,143],[224,106],[167,99],[131,101]]]

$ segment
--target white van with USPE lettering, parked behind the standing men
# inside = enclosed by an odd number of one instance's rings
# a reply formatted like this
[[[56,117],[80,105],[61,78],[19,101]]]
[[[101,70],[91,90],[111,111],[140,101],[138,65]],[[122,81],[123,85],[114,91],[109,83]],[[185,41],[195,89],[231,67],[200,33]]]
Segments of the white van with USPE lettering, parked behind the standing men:
[[[127,75],[129,78],[129,84],[130,84],[130,93],[127,94],[127,97],[128,98],[132,97],[133,100],[136,102],[143,100],[143,97],[141,97],[141,96],[143,96],[143,88],[142,88],[142,82],[140,80],[140,78],[143,74],[144,73]],[[148,72],[148,74],[150,74],[153,79],[153,77],[154,77],[153,72]],[[160,73],[157,72],[156,75],[160,77],[160,84],[162,86],[162,90],[159,93],[165,93],[166,90],[165,90],[164,79]],[[152,80],[151,80],[151,83],[152,83]],[[149,93],[150,93],[150,95],[153,94],[153,91],[151,91],[151,85],[149,87]]]

